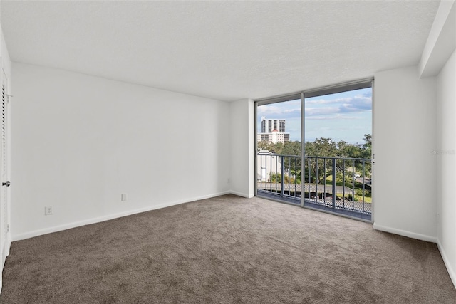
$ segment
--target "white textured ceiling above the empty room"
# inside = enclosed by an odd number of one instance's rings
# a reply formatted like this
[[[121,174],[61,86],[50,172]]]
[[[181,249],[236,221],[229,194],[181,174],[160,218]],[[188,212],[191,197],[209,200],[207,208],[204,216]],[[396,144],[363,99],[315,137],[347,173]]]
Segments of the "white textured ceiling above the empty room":
[[[1,1],[12,61],[219,100],[417,65],[439,1]]]

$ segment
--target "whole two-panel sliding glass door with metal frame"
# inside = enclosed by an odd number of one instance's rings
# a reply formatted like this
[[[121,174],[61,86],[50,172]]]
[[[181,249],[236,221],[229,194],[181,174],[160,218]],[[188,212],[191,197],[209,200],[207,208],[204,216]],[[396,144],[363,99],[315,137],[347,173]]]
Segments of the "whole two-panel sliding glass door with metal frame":
[[[257,101],[257,195],[371,220],[372,80]]]

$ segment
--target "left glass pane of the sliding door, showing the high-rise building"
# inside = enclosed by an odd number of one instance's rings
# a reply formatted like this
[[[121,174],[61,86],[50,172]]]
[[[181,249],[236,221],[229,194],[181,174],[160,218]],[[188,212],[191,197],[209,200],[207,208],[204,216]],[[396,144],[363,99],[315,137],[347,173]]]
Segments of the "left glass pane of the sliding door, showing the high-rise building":
[[[301,99],[257,107],[257,193],[301,204]]]

